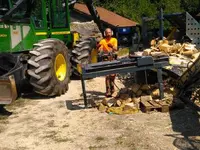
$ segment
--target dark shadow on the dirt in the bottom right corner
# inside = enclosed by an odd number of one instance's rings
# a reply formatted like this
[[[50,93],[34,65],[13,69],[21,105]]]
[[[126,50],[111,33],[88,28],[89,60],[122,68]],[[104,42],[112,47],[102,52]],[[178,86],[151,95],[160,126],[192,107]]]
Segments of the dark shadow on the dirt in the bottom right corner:
[[[192,107],[170,111],[174,146],[181,150],[200,150],[200,115]]]

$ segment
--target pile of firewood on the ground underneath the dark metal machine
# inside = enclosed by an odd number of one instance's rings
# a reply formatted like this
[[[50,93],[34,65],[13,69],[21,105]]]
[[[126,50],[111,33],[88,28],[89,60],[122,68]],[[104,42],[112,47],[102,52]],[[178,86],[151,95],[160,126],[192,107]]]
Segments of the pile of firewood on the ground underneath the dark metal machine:
[[[169,106],[172,105],[174,88],[165,85],[165,101]],[[132,84],[130,87],[121,89],[111,98],[104,98],[97,104],[99,111],[114,114],[133,114],[141,109],[143,101],[159,101],[160,92],[157,85]]]

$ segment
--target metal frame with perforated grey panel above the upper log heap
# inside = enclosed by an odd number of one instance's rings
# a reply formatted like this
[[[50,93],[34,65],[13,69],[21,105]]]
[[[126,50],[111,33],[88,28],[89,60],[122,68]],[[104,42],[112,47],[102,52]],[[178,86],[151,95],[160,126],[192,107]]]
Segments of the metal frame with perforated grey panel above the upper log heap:
[[[159,10],[159,14],[157,17],[142,18],[142,38],[144,43],[148,43],[148,36],[147,36],[147,22],[159,20],[159,32],[160,38],[163,39],[163,32],[164,32],[164,20],[168,20],[173,26],[176,26],[180,32],[184,32],[184,34],[190,38],[193,44],[196,45],[197,48],[200,48],[200,24],[195,18],[192,17],[188,12],[184,13],[171,13],[171,14],[164,14],[163,9]]]

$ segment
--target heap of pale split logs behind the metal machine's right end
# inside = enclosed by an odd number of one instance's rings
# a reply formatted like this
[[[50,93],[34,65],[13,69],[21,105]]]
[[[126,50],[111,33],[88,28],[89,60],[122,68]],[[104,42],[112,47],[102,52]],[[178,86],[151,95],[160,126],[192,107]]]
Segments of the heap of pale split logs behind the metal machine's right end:
[[[191,43],[176,43],[175,40],[152,40],[151,47],[145,49],[141,55],[162,57],[169,56],[169,63],[171,66],[166,68],[182,75],[188,66],[194,62],[200,54],[200,51],[196,48],[196,45]],[[136,53],[137,54],[137,53]]]

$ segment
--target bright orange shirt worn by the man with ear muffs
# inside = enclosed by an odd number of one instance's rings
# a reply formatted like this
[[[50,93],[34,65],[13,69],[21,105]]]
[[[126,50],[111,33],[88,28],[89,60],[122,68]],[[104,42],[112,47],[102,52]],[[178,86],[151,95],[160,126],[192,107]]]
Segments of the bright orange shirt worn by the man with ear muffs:
[[[117,48],[117,39],[111,38],[111,39],[102,39],[99,42],[99,50],[103,50],[104,52],[111,52],[112,48],[108,46],[108,44],[111,44],[113,47]]]

